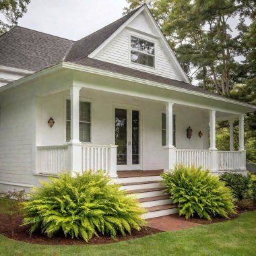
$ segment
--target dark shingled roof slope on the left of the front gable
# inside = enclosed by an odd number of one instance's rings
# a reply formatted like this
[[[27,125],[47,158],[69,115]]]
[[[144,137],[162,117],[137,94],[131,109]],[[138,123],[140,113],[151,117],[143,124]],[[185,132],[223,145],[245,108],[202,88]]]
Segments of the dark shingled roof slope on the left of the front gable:
[[[86,36],[73,43],[69,49],[65,61],[75,61],[88,57],[90,53],[100,46],[106,39],[109,38],[120,26],[122,26],[131,16],[141,7],[131,11],[127,15],[123,16],[119,20],[108,24],[104,28],[97,30],[96,32]]]

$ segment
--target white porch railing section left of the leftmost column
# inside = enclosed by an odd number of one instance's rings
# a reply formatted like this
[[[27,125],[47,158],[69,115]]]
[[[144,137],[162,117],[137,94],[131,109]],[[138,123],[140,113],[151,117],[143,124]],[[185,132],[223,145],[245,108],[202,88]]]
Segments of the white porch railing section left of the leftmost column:
[[[58,174],[67,170],[67,146],[37,147],[37,172]]]

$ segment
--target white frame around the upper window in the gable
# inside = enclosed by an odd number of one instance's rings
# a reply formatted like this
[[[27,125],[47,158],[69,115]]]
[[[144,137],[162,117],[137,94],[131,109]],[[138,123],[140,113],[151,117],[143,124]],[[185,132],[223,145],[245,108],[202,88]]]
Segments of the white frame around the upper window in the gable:
[[[154,44],[154,53],[155,53],[154,55],[150,55],[148,53],[143,53],[143,52],[137,51],[138,53],[153,56],[154,57],[154,67],[150,67],[148,65],[143,65],[143,64],[139,64],[139,63],[135,63],[135,62],[131,61],[131,51],[133,51],[131,49],[131,36],[133,36],[135,38],[138,38],[138,39],[141,39],[141,40],[145,40],[147,42],[152,42]],[[145,37],[137,35],[137,34],[129,34],[129,65],[131,67],[140,66],[140,67],[143,67],[146,70],[148,69],[149,71],[152,70],[152,69],[155,70],[156,69],[156,40],[154,40],[152,38],[145,38]]]

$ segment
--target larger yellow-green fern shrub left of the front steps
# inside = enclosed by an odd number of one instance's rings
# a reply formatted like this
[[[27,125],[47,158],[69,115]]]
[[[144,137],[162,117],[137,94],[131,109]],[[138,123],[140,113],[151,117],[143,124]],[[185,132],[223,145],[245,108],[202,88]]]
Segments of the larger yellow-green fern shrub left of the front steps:
[[[102,171],[75,177],[61,174],[51,183],[44,182],[32,189],[22,209],[26,213],[23,224],[31,225],[30,234],[41,230],[49,237],[63,232],[85,241],[98,234],[115,239],[118,232],[125,235],[145,224],[139,203],[120,191],[119,185],[110,183]]]

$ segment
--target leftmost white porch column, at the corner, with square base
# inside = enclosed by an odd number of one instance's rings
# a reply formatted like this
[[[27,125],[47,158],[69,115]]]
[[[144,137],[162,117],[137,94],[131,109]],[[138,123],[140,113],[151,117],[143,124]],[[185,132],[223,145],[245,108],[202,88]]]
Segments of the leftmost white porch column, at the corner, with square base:
[[[69,171],[82,171],[82,143],[79,141],[79,91],[80,86],[72,86],[70,89],[71,104],[71,138],[68,143],[68,168]]]

